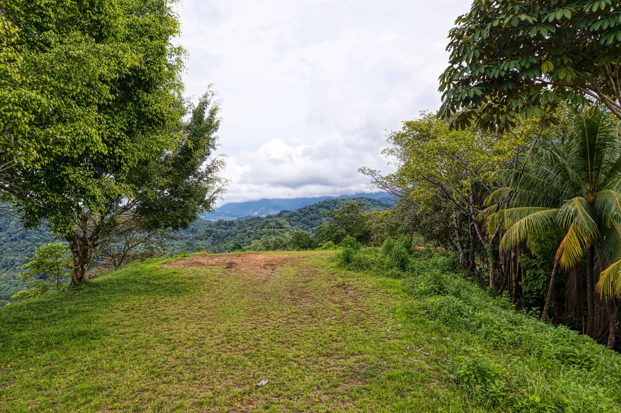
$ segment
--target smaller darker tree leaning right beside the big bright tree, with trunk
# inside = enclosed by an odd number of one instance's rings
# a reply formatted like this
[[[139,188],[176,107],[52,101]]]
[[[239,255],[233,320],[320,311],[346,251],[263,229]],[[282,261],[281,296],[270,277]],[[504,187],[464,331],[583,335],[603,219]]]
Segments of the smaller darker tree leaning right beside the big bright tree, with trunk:
[[[190,105],[191,115],[179,123],[181,138],[173,149],[128,173],[125,182],[132,186],[132,195],[108,198],[103,210],[82,210],[71,230],[62,233],[73,254],[71,283],[83,280],[100,246],[115,251],[122,241],[125,251],[160,231],[188,228],[212,210],[225,185],[219,175],[224,162],[212,156],[220,127],[214,97],[209,91],[196,106]]]

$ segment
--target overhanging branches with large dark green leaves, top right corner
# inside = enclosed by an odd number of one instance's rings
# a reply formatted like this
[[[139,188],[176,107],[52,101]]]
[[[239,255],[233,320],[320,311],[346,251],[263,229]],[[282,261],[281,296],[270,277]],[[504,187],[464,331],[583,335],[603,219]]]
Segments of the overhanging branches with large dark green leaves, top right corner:
[[[621,5],[612,0],[475,0],[451,29],[440,114],[506,129],[561,101],[621,118]]]

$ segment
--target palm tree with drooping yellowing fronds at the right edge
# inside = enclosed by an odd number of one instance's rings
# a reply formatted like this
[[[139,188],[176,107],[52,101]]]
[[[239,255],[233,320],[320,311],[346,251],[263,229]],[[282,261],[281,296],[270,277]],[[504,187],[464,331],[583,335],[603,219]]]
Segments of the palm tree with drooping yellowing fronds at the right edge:
[[[556,251],[543,318],[559,267],[568,270],[587,259],[587,334],[594,324],[594,291],[621,295],[621,141],[618,121],[604,110],[572,115],[562,133],[525,153],[519,170],[495,174],[499,188],[487,198],[489,229],[507,230],[502,248],[558,228]],[[496,211],[496,212],[494,212]]]

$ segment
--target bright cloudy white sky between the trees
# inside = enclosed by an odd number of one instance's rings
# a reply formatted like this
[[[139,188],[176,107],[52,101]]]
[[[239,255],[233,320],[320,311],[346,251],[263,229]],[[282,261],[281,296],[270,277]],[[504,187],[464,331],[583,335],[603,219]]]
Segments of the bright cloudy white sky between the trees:
[[[387,131],[440,105],[448,30],[471,0],[181,0],[186,95],[220,99],[220,200],[368,192]]]

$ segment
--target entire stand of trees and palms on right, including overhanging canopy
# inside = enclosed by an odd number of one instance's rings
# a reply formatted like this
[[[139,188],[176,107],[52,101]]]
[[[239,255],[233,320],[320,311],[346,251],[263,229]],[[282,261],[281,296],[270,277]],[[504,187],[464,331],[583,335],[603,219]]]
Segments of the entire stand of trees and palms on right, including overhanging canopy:
[[[610,0],[474,2],[449,32],[438,112],[388,135],[396,172],[361,169],[493,294],[610,348],[621,295],[620,13]]]

